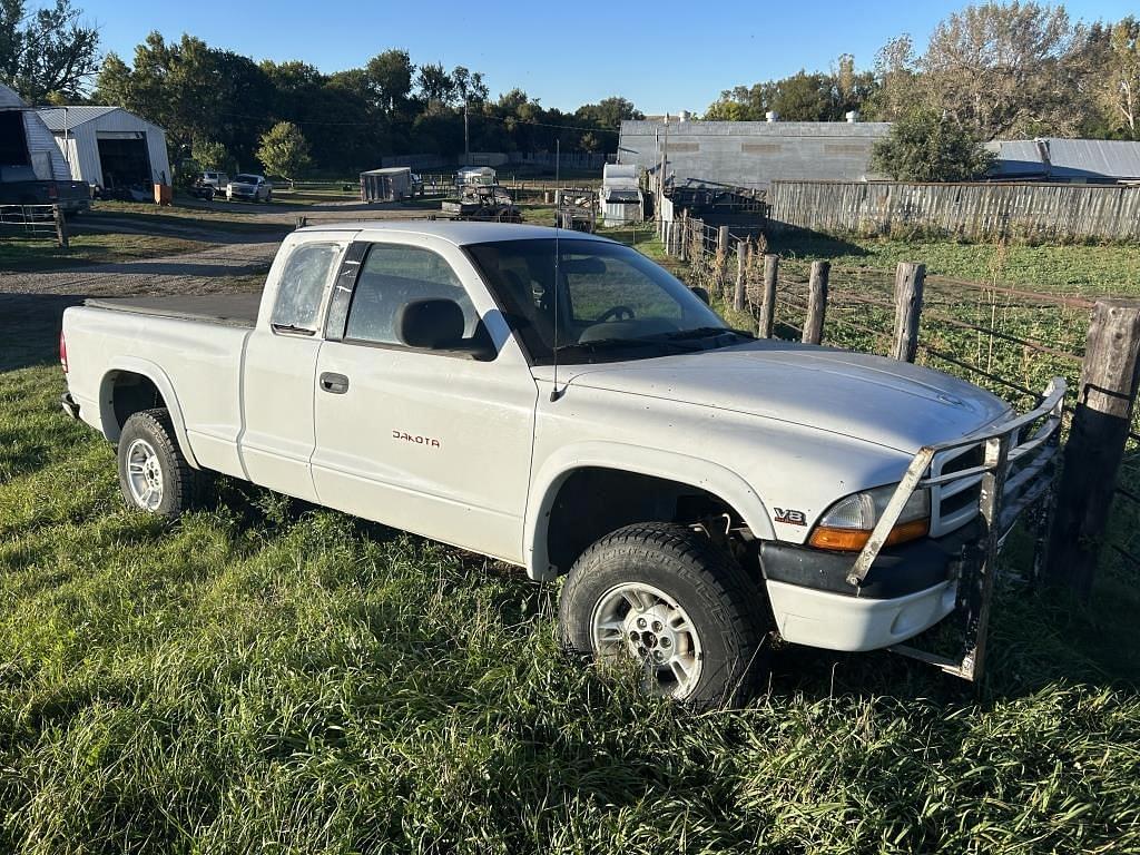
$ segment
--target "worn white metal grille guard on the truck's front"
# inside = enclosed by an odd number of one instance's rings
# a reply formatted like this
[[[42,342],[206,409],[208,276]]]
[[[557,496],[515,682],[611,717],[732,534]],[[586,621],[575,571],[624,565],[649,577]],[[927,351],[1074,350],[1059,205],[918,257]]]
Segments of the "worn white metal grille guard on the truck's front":
[[[977,539],[962,547],[958,561],[956,611],[964,621],[961,658],[928,653],[904,644],[890,650],[929,662],[964,679],[976,681],[982,676],[997,554],[1007,535],[1031,508],[1035,528],[1034,577],[1041,561],[1052,515],[1054,463],[1060,450],[1065,392],[1065,381],[1053,377],[1045,386],[1041,402],[1029,413],[990,425],[961,439],[923,446],[914,455],[866,546],[855,559],[847,576],[848,584],[856,587],[862,585],[915,490],[980,477],[980,524]],[[1021,439],[1021,434],[1036,422],[1041,423],[1036,430],[1028,438]],[[936,455],[967,446],[982,446],[980,465],[942,475],[928,474]]]

